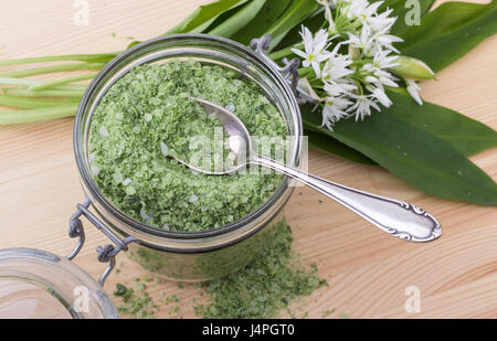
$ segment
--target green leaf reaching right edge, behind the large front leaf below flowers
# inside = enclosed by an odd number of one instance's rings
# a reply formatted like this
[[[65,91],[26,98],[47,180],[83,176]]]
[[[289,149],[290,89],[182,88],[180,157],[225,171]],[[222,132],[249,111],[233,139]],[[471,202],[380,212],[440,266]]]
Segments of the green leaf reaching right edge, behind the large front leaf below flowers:
[[[419,106],[411,97],[389,93],[395,104],[388,110],[412,126],[448,142],[466,157],[497,147],[497,131],[457,111],[431,103]]]

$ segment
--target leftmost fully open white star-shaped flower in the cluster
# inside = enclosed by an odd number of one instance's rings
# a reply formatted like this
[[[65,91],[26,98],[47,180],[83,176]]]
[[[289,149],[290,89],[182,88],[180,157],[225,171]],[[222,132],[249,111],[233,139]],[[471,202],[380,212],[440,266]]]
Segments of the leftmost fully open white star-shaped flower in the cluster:
[[[313,38],[313,33],[309,29],[303,26],[300,36],[304,41],[304,51],[292,49],[292,52],[304,58],[304,67],[311,65],[316,76],[320,77],[320,63],[328,58],[326,51],[328,32],[326,30],[319,30],[316,33],[316,36]]]

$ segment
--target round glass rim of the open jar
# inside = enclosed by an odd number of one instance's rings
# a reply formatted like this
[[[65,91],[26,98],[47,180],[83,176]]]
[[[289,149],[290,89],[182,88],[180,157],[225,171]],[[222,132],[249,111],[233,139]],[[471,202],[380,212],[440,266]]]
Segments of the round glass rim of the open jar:
[[[199,40],[203,42],[212,42],[216,44],[221,44],[228,47],[232,47],[237,50],[239,52],[242,52],[246,56],[250,56],[251,58],[255,60],[257,63],[260,63],[261,66],[264,67],[266,72],[269,73],[272,77],[274,77],[283,87],[284,92],[286,93],[286,97],[288,98],[288,105],[290,108],[293,108],[290,115],[294,120],[294,143],[295,147],[293,149],[292,154],[292,162],[295,164],[298,164],[299,158],[300,158],[300,151],[302,151],[302,136],[303,136],[303,122],[300,117],[300,111],[298,107],[297,99],[288,84],[288,82],[283,77],[279,71],[276,70],[274,65],[268,63],[265,58],[261,57],[257,53],[255,53],[250,47],[240,44],[235,41],[232,41],[230,39],[221,38],[221,36],[214,36],[209,34],[201,34],[201,33],[179,33],[179,34],[169,34],[163,35],[159,38],[155,38],[148,41],[145,41],[140,44],[137,44],[133,46],[131,49],[126,50],[121,54],[117,55],[115,58],[113,58],[110,62],[108,62],[104,68],[98,73],[98,75],[92,81],[89,86],[86,88],[82,100],[80,102],[80,106],[77,108],[76,118],[74,122],[74,152],[76,158],[77,168],[80,171],[80,174],[82,175],[83,182],[84,182],[84,189],[88,190],[94,199],[96,199],[97,203],[105,207],[106,210],[110,211],[110,213],[117,217],[123,223],[133,226],[134,228],[145,232],[147,234],[151,234],[159,237],[167,237],[171,239],[194,239],[194,238],[205,238],[205,237],[212,237],[216,235],[223,235],[230,232],[233,232],[242,226],[244,226],[247,222],[253,221],[264,214],[269,207],[272,207],[285,193],[285,191],[288,188],[288,178],[286,175],[283,175],[283,180],[279,183],[278,188],[273,192],[273,194],[269,196],[268,200],[266,200],[263,204],[261,204],[257,209],[252,211],[250,214],[243,216],[242,219],[234,221],[230,224],[226,224],[224,226],[205,230],[205,231],[195,231],[195,232],[175,232],[175,231],[166,231],[157,227],[149,226],[145,223],[141,223],[129,215],[125,214],[120,210],[118,210],[112,202],[109,202],[105,195],[102,194],[102,192],[98,190],[98,187],[93,179],[93,177],[89,174],[88,169],[85,167],[84,159],[84,150],[81,148],[82,145],[80,143],[80,139],[82,138],[80,135],[82,125],[83,125],[83,116],[86,109],[86,105],[88,104],[88,100],[93,97],[93,95],[96,95],[99,93],[97,88],[97,85],[105,79],[105,77],[112,73],[116,67],[121,66],[123,62],[126,62],[128,58],[133,57],[134,55],[137,55],[140,51],[150,47],[156,44],[161,43],[168,43],[175,40]],[[129,70],[127,71],[129,72]],[[96,92],[95,92],[96,90]],[[282,113],[283,114],[283,113]],[[93,113],[91,114],[93,115]],[[285,119],[287,120],[287,119]],[[288,122],[287,122],[288,124]]]

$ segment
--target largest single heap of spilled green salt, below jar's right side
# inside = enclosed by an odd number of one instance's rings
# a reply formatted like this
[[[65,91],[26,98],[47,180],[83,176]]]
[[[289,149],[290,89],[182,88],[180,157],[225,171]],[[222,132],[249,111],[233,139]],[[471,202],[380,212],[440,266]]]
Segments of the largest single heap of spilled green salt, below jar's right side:
[[[292,230],[286,222],[275,226],[267,247],[243,269],[203,284],[210,302],[195,307],[209,319],[271,319],[300,297],[326,285],[316,266],[304,267],[292,247]]]

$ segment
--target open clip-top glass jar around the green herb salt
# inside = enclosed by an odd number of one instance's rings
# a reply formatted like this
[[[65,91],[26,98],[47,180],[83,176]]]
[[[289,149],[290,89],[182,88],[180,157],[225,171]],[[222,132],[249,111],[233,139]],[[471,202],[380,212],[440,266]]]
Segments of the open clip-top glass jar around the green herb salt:
[[[98,190],[92,177],[88,140],[93,113],[113,84],[133,67],[161,63],[170,58],[189,58],[218,64],[239,72],[254,82],[285,118],[290,139],[287,163],[298,167],[302,149],[302,119],[295,97],[296,61],[278,67],[264,54],[268,36],[253,42],[253,50],[231,40],[204,34],[173,34],[141,43],[110,61],[86,89],[74,125],[74,152],[87,200],[73,216],[73,237],[84,242],[80,215],[85,215],[114,242],[101,248],[102,262],[110,262],[101,283],[113,268],[117,252],[129,256],[149,271],[181,281],[200,281],[230,274],[246,265],[271,239],[273,226],[283,219],[282,210],[292,194],[290,180],[284,178],[274,194],[243,219],[214,230],[171,232],[138,222],[114,206]],[[292,85],[287,76],[293,73]],[[87,211],[92,205],[97,212]],[[77,226],[76,226],[77,225]]]

